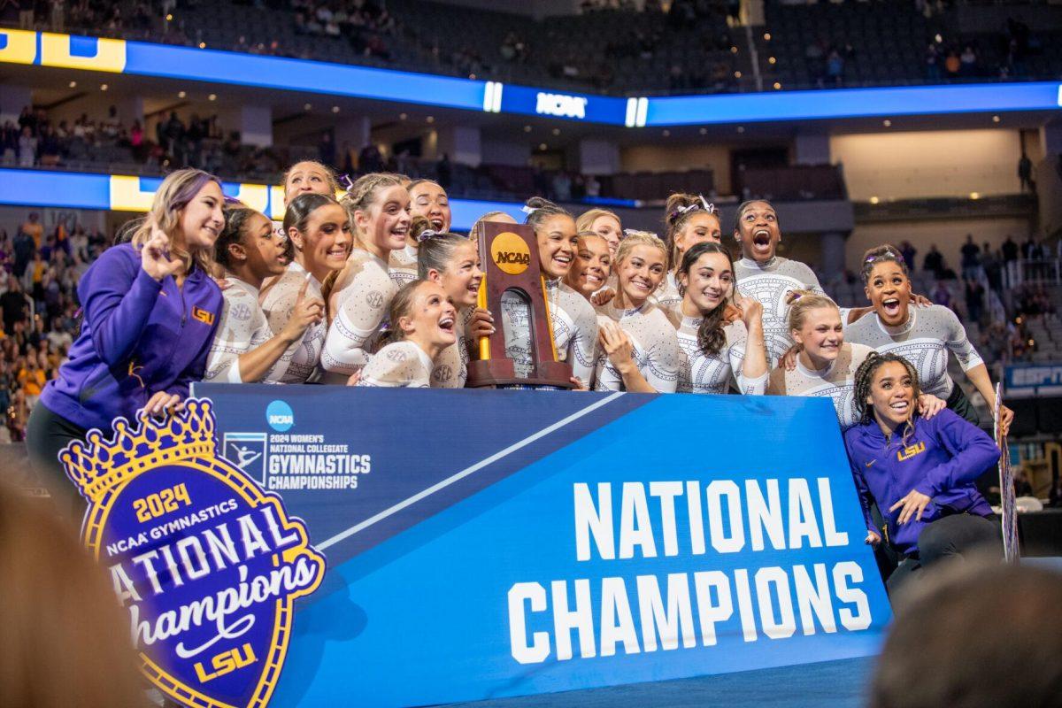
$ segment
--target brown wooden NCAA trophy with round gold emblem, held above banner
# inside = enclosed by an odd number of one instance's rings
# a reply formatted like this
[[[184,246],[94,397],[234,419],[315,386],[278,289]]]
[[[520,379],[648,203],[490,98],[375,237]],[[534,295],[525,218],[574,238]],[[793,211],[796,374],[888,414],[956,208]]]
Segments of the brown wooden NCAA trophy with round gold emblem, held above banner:
[[[538,263],[534,229],[526,224],[483,222],[475,236],[483,270],[478,305],[497,313],[495,316],[500,321],[503,294],[524,301],[528,317],[514,318],[513,325],[526,326],[530,331],[510,332],[510,336],[527,336],[531,366],[526,377],[518,376],[515,362],[506,356],[504,327],[495,327],[493,334],[480,338],[479,359],[468,362],[467,385],[571,388],[571,366],[556,360],[553,323],[546,303],[546,281]]]

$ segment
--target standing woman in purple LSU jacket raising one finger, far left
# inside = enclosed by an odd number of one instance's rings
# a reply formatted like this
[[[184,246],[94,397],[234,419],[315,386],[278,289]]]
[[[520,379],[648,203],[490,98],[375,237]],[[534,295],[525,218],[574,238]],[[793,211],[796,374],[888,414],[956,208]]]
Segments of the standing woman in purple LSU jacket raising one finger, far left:
[[[221,314],[208,265],[225,218],[221,183],[199,170],[162,180],[131,243],[105,251],[78,286],[84,317],[69,361],[33,409],[27,447],[56,500],[76,494],[58,452],[144,408],[178,411],[202,380]],[[64,510],[66,507],[64,506]]]

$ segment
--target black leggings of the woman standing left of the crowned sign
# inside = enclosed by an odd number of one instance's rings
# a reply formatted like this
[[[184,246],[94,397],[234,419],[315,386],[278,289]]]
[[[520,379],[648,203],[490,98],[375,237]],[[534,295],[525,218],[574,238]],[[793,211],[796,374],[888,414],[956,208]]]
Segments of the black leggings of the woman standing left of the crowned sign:
[[[34,473],[51,494],[59,512],[71,514],[79,523],[85,516],[87,504],[66,476],[58,455],[70,441],[83,441],[87,433],[87,430],[52,413],[39,401],[30,413],[25,429],[25,447]]]

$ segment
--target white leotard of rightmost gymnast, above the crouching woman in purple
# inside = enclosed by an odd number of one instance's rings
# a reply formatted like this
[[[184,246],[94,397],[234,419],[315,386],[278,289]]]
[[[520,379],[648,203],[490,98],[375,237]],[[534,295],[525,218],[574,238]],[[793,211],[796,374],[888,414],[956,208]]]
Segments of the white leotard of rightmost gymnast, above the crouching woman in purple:
[[[876,312],[869,312],[844,330],[849,342],[866,344],[881,353],[897,353],[914,365],[922,392],[947,400],[955,382],[947,374],[947,352],[959,360],[963,372],[983,364],[970,343],[966,329],[943,305],[911,306],[907,322],[888,327]]]

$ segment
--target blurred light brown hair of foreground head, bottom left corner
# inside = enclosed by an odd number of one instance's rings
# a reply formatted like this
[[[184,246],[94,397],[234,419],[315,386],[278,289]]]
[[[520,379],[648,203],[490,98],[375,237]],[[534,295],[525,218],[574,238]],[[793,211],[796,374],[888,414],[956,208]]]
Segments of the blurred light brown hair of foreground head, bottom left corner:
[[[0,706],[145,705],[129,627],[76,530],[0,479]]]

